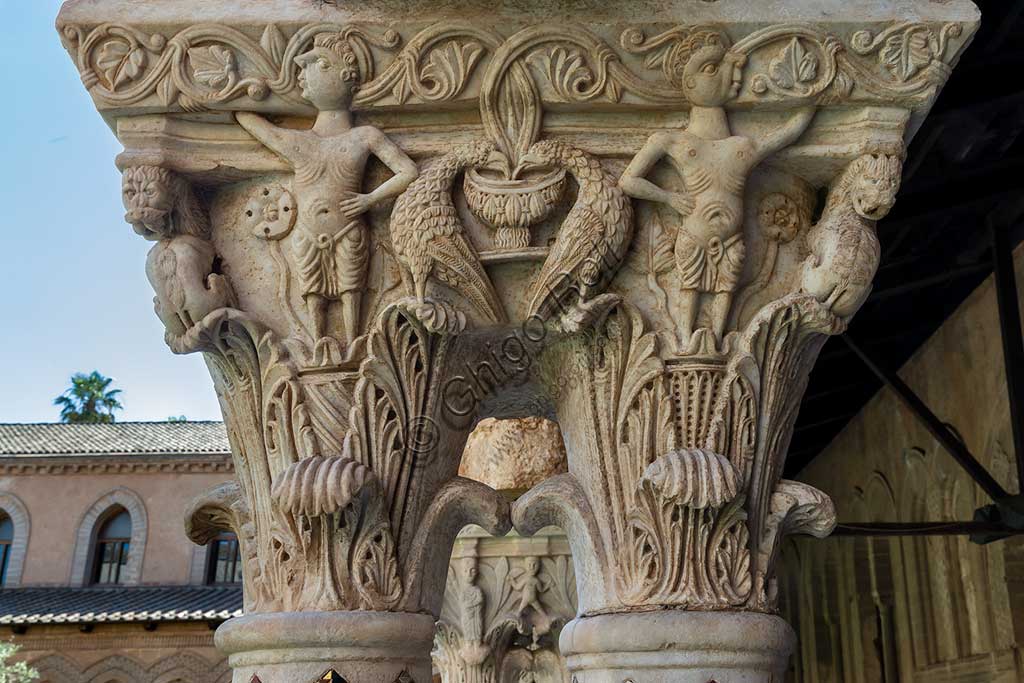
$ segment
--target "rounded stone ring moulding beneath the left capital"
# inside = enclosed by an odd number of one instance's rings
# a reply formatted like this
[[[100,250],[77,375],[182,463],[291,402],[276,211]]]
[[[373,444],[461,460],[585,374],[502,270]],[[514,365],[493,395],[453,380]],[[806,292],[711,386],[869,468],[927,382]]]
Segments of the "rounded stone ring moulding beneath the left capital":
[[[233,683],[426,683],[433,638],[429,614],[377,611],[248,614],[215,637]]]

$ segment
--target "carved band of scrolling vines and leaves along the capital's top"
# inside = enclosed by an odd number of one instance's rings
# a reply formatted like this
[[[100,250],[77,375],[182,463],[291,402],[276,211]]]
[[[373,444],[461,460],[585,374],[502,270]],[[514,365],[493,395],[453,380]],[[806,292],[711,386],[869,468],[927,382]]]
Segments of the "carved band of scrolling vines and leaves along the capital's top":
[[[215,108],[245,96],[264,100],[271,93],[307,105],[297,91],[294,58],[322,32],[343,33],[356,51],[364,76],[356,106],[403,104],[414,98],[421,102],[457,99],[470,93],[474,74],[487,59],[484,53],[490,53],[480,82],[480,109],[485,128],[504,146],[521,144],[520,138],[536,138],[537,111],[548,93],[551,101],[561,102],[598,97],[615,102],[631,93],[649,103],[685,105],[686,99],[666,71],[666,55],[675,43],[700,29],[674,27],[651,37],[639,27],[623,31],[618,47],[626,54],[644,56],[642,66],[660,69],[664,80],[641,78],[603,39],[571,24],[529,27],[503,38],[494,29],[469,22],[439,23],[415,34],[376,77],[374,48],[394,51],[401,43],[396,31],[383,27],[317,23],[299,28],[286,39],[279,27],[269,24],[258,41],[215,24],[187,27],[170,38],[123,24],[91,30],[65,25],[60,31],[83,83],[97,101],[127,106],[157,94],[165,106],[177,104],[185,111]],[[750,79],[751,90],[760,96],[845,97],[856,84],[868,95],[912,100],[927,96],[945,80],[950,70],[946,54],[950,39],[962,35],[963,27],[955,23],[900,23],[877,32],[858,31],[844,40],[812,25],[781,24],[754,31],[731,49],[750,55],[778,46],[773,60],[777,69]],[[549,49],[539,55],[542,46]],[[540,75],[550,84],[544,92],[537,89],[530,68],[538,56]],[[788,74],[792,69],[782,69],[784,57],[796,58],[793,74]],[[498,104],[503,101],[518,102],[517,121],[500,121]],[[506,130],[510,125],[515,129],[511,135]]]

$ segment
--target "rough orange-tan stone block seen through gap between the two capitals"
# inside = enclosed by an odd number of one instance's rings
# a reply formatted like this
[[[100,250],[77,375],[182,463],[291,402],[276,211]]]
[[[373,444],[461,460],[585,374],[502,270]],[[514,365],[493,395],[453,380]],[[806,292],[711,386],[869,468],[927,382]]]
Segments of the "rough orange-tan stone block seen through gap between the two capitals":
[[[459,475],[497,490],[523,492],[566,471],[558,424],[546,418],[495,420],[473,429]]]

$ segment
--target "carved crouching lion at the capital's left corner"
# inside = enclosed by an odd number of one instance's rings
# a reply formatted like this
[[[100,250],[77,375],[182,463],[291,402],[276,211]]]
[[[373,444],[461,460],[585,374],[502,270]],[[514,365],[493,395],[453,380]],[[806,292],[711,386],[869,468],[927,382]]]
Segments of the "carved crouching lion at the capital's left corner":
[[[146,256],[145,274],[174,348],[175,340],[209,313],[233,306],[234,293],[218,272],[206,213],[184,178],[159,166],[136,166],[125,169],[121,191],[125,220],[157,242]]]

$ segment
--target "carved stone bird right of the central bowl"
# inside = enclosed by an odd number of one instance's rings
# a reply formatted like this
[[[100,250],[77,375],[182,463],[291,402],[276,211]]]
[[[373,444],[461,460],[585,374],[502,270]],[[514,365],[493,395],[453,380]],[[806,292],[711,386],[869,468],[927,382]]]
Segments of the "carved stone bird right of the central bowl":
[[[548,319],[607,286],[633,237],[633,206],[597,159],[559,140],[535,142],[519,165],[564,168],[579,185],[529,295],[529,314]]]

